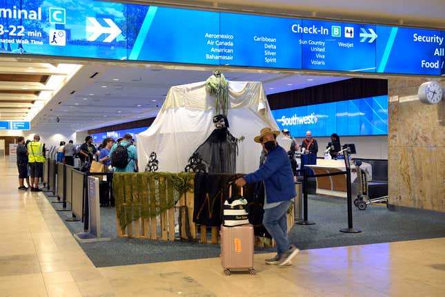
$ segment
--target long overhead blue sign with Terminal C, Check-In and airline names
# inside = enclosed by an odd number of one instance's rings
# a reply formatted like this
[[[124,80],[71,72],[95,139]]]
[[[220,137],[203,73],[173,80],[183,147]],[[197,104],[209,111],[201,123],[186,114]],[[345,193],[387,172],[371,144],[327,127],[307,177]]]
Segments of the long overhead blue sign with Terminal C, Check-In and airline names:
[[[91,0],[0,0],[0,52],[445,75],[445,32]]]

